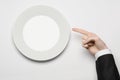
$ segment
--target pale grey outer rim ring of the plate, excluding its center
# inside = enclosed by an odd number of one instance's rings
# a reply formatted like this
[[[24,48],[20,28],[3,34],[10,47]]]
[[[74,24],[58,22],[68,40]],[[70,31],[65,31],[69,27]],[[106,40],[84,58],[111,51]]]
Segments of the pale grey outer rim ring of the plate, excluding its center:
[[[58,24],[59,40],[51,49],[35,51],[29,48],[23,40],[25,23],[34,16],[44,15],[52,18]],[[58,56],[67,46],[70,37],[70,26],[64,16],[54,8],[48,6],[34,6],[25,10],[16,20],[13,29],[13,41],[17,49],[27,58],[36,61],[46,61]]]

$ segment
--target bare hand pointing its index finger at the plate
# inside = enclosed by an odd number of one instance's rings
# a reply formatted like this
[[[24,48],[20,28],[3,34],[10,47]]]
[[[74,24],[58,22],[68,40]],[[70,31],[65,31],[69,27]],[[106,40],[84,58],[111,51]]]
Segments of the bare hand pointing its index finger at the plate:
[[[95,55],[98,51],[107,49],[106,44],[96,34],[80,28],[72,28],[72,30],[83,34],[83,47],[88,49],[91,54]]]

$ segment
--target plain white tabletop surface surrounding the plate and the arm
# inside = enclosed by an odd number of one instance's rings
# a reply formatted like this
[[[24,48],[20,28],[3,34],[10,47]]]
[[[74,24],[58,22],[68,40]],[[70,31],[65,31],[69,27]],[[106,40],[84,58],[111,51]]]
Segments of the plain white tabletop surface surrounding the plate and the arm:
[[[120,0],[0,0],[0,80],[97,80],[95,59],[71,32],[58,58],[41,63],[23,57],[14,47],[15,19],[26,8],[48,5],[58,9],[71,27],[97,33],[112,50],[120,71]]]

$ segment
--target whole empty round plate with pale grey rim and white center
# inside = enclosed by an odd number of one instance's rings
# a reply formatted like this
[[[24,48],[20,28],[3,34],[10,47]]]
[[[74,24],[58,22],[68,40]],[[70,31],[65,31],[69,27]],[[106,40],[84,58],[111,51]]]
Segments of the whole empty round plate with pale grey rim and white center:
[[[46,61],[63,52],[70,37],[70,26],[64,16],[48,6],[34,6],[16,20],[13,41],[27,58]]]

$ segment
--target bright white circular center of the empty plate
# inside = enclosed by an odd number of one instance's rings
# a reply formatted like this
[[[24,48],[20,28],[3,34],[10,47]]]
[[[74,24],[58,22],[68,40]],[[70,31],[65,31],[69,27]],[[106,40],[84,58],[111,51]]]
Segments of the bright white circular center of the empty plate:
[[[33,50],[46,51],[51,49],[59,40],[57,23],[48,16],[35,16],[24,26],[23,38]]]

